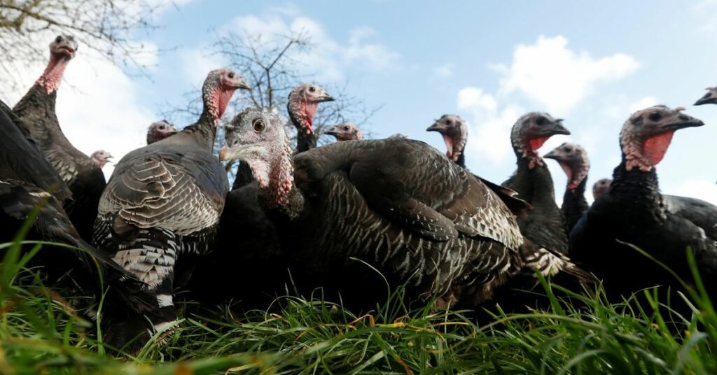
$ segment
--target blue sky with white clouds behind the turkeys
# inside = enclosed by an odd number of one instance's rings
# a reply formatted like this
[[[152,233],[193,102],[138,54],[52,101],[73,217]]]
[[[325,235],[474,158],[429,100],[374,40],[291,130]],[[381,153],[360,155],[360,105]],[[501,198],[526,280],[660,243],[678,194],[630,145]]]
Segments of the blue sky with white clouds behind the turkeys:
[[[120,157],[143,146],[150,123],[169,105],[186,104],[184,93],[226,65],[209,50],[218,34],[304,31],[315,47],[300,57],[301,69],[313,82],[346,83],[348,95],[381,107],[364,129],[376,138],[403,133],[445,151],[442,138],[425,128],[443,114],[460,115],[470,126],[467,167],[498,183],[516,168],[509,134],[523,113],[565,119],[571,136],[551,138],[540,152],[566,141],[581,144],[592,186],[619,163],[618,133],[630,113],[682,105],[706,126],[676,133],[657,166],[660,188],[717,204],[717,105],[692,106],[705,87],[717,85],[717,0],[170,5],[156,15],[160,27],[135,36],[148,51],[143,74],[82,47],[70,62],[57,114],[81,151],[102,148]],[[45,64],[21,72],[24,87]],[[25,91],[3,99],[14,104]],[[561,201],[566,177],[556,162],[546,163]],[[105,174],[111,172],[105,166]],[[590,191],[587,196],[592,201]]]

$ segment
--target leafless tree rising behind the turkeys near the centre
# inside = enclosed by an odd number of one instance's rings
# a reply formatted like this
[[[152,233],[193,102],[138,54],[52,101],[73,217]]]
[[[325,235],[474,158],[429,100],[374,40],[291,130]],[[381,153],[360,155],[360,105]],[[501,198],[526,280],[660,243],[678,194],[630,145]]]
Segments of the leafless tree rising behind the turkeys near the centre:
[[[242,90],[232,99],[232,105],[224,117],[231,119],[232,113],[238,113],[247,107],[270,110],[279,116],[285,124],[288,134],[295,138],[295,128],[290,123],[286,105],[289,92],[301,83],[312,81],[312,75],[303,74],[303,62],[296,56],[308,52],[312,43],[308,34],[303,32],[291,35],[267,36],[264,34],[242,35],[227,33],[217,36],[212,44],[211,54],[219,54],[229,61],[230,67],[239,72],[251,90]],[[322,103],[314,116],[313,129],[321,136],[328,125],[351,121],[358,125],[366,123],[380,108],[366,108],[363,100],[347,93],[348,83],[341,86],[323,85],[316,82],[331,93],[336,101]],[[248,92],[247,92],[248,91]],[[175,123],[189,123],[201,113],[199,90],[188,92],[185,98],[186,107],[171,108],[164,113]],[[320,137],[319,143],[326,143],[326,137]],[[218,151],[224,143],[224,134],[220,130],[214,143]],[[234,163],[228,163],[227,171],[232,170]],[[230,172],[231,174],[231,172]]]

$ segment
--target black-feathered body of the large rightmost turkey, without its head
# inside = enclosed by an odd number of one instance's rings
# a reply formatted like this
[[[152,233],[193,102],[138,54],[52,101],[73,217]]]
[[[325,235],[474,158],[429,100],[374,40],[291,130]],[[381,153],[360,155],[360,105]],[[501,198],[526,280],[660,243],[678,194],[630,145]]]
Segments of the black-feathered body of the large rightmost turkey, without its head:
[[[678,286],[662,267],[617,241],[639,247],[685,280],[691,280],[686,258],[690,247],[706,285],[716,290],[717,207],[698,199],[663,196],[654,169],[626,171],[624,162],[618,166],[607,192],[594,201],[570,239],[574,258],[604,278],[612,293]]]

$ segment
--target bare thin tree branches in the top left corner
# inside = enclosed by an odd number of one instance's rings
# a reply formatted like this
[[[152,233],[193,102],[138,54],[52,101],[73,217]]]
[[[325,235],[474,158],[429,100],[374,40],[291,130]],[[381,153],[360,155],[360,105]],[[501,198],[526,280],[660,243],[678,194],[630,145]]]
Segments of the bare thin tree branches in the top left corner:
[[[173,0],[0,0],[0,72],[4,90],[12,89],[16,70],[47,59],[47,44],[57,34],[72,34],[108,60],[143,67],[145,46],[130,34],[153,29],[158,9]],[[9,87],[8,87],[9,86]]]

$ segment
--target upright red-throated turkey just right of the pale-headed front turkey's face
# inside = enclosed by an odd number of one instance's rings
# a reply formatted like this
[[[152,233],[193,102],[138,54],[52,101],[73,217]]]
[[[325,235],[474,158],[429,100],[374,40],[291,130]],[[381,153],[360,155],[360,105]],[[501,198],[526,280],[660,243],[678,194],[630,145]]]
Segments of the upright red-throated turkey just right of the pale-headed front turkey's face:
[[[313,131],[313,116],[318,103],[331,102],[334,98],[321,87],[311,83],[297,86],[289,93],[286,105],[291,123],[296,127],[296,152],[304,152],[316,147],[316,135]]]

